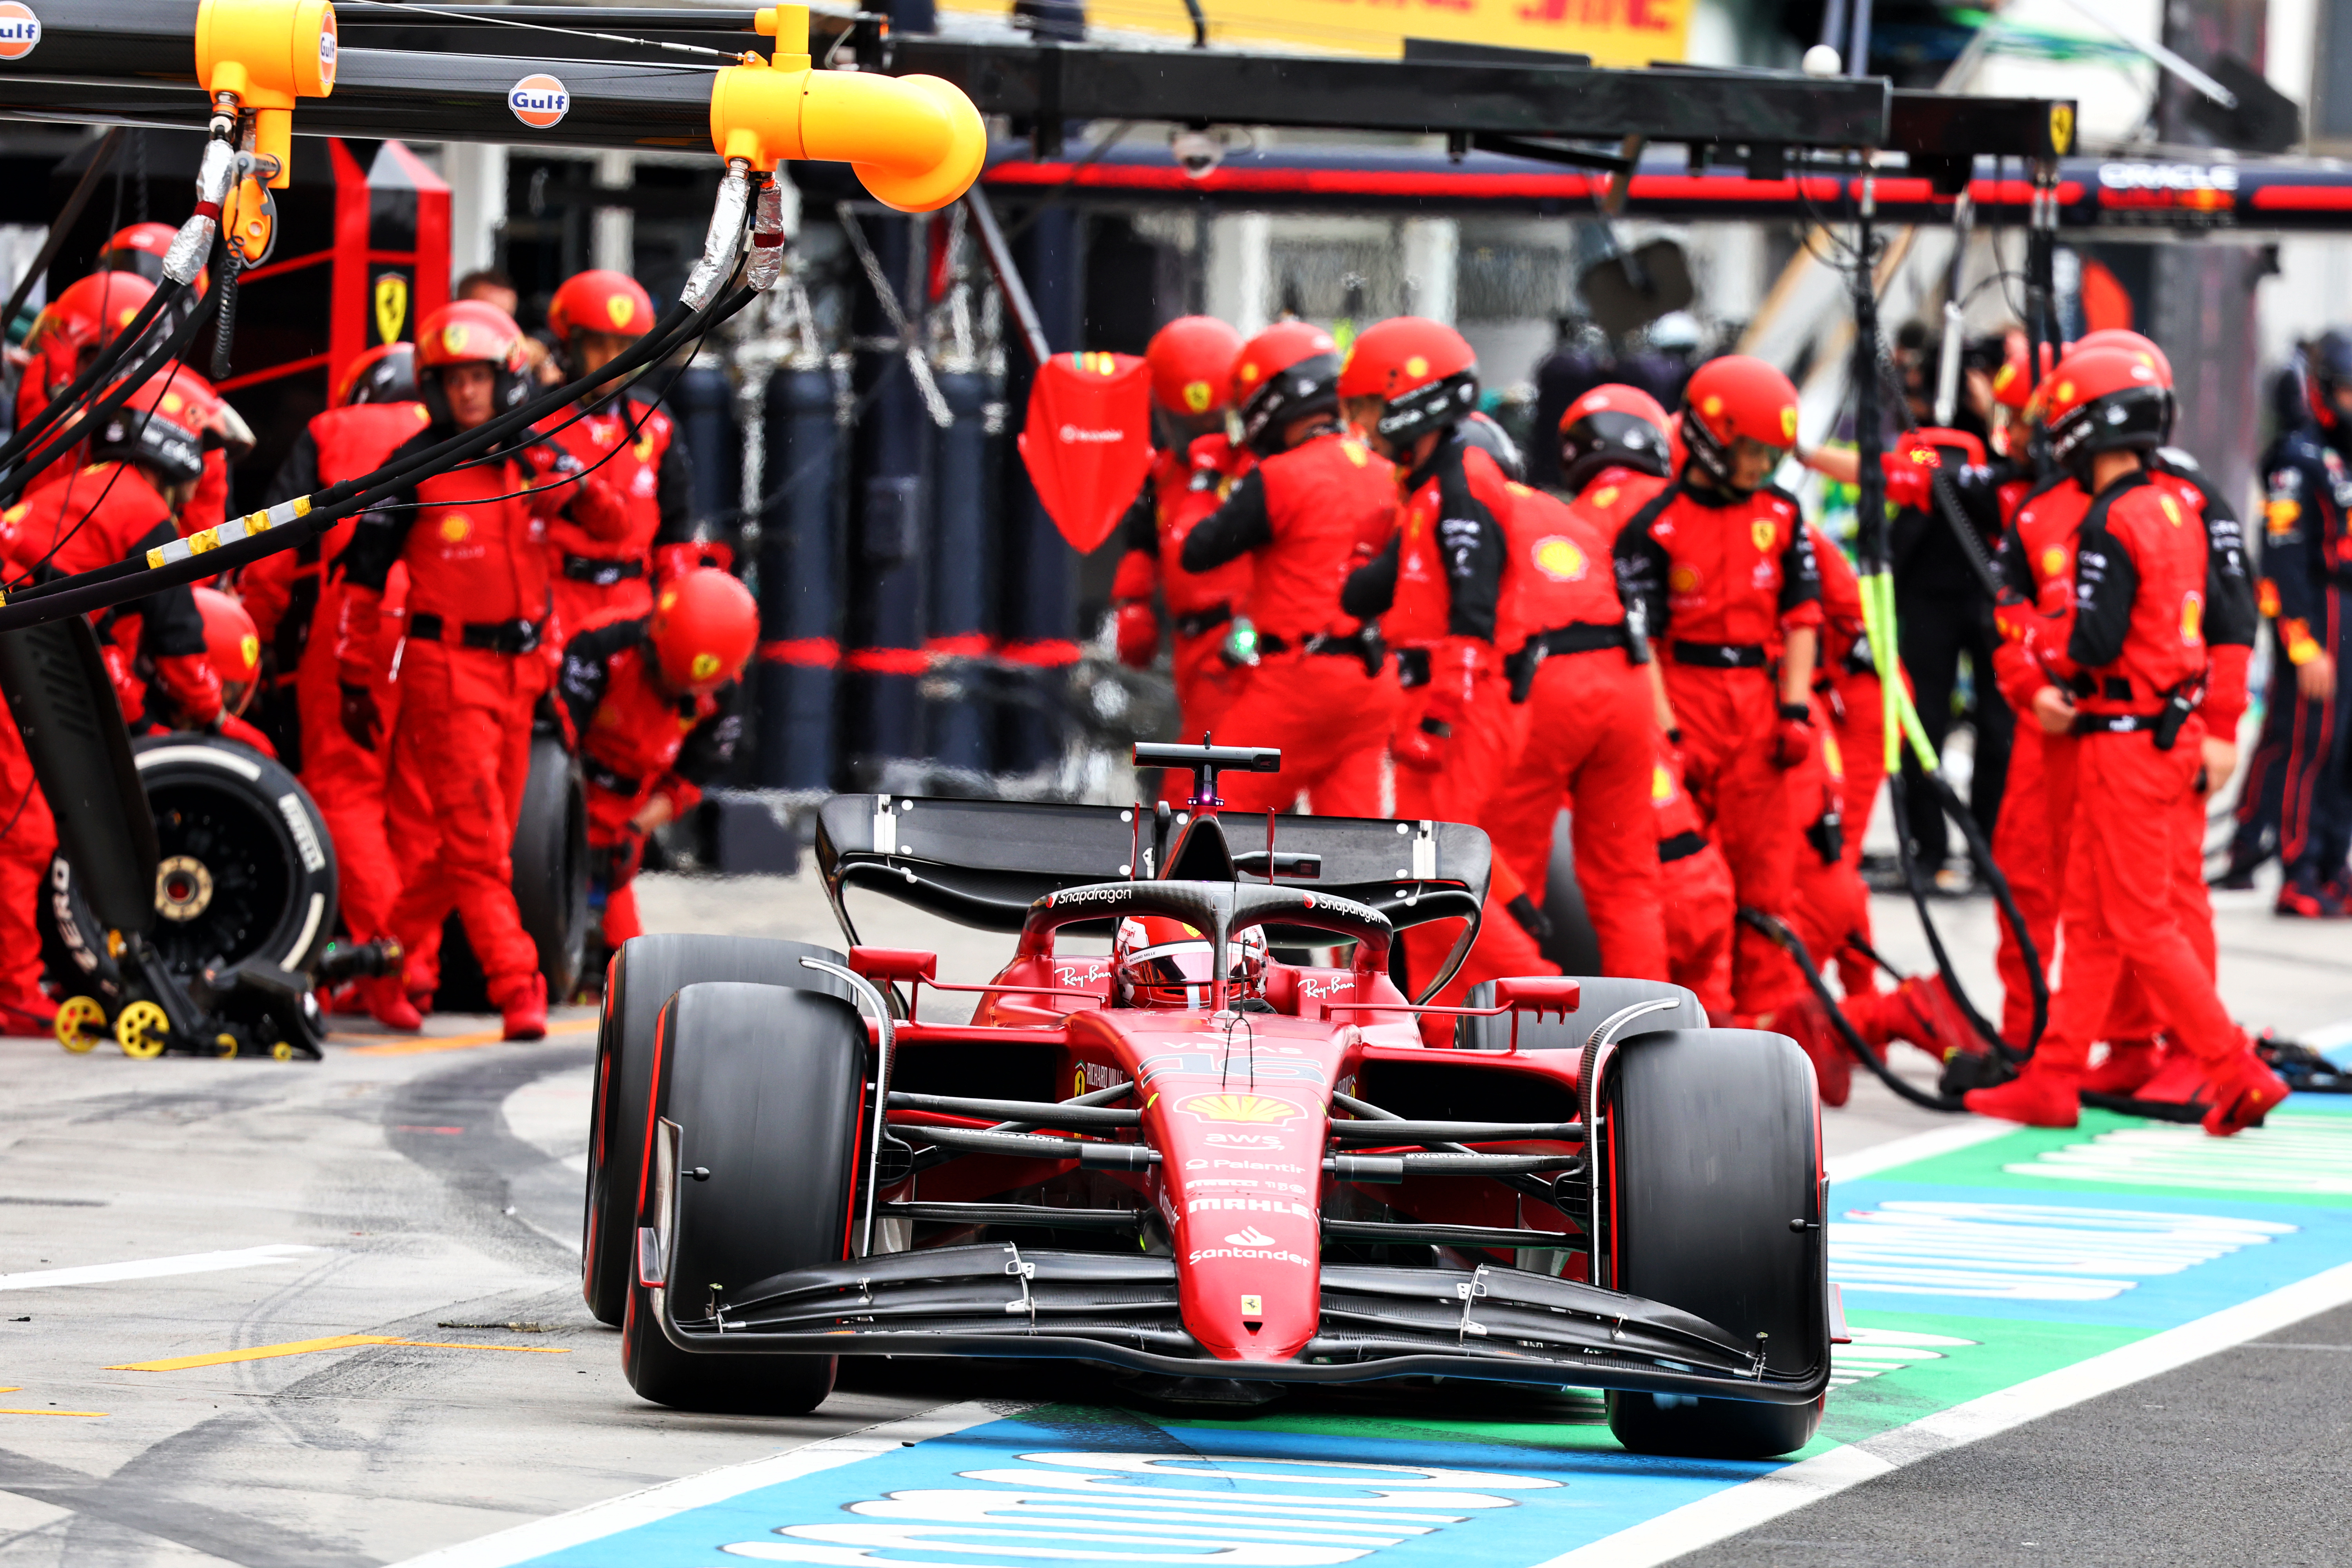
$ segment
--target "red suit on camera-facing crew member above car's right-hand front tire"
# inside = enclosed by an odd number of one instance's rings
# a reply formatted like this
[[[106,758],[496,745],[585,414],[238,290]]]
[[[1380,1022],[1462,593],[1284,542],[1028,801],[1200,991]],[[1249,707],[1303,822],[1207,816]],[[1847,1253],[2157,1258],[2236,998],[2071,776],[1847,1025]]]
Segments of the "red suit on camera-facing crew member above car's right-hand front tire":
[[[1797,830],[1773,762],[1783,632],[1820,625],[1820,567],[1797,498],[1661,491],[1616,538],[1618,578],[1665,658],[1686,780],[1731,865],[1740,905],[1790,924]],[[1797,964],[1750,926],[1733,931],[1731,994],[1771,1013],[1804,990]]]

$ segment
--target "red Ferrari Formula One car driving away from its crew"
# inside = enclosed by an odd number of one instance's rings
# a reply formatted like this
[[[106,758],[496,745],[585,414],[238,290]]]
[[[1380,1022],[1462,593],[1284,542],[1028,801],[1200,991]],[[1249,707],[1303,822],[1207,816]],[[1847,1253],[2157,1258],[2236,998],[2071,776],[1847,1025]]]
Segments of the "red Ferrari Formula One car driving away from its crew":
[[[1797,1044],[1710,1030],[1672,985],[1543,978],[1430,1048],[1390,945],[1477,919],[1486,837],[1218,818],[1216,769],[1268,757],[1138,748],[1197,769],[1188,811],[835,797],[818,867],[847,954],[621,950],[583,1276],[642,1396],[797,1413],[844,1354],[1028,1356],[1228,1403],[1597,1387],[1639,1450],[1806,1443],[1835,1331]],[[988,985],[938,985],[927,952],[856,945],[849,889],[1018,945]],[[1192,929],[1204,973],[1138,987],[1056,952],[1155,919]],[[924,990],[976,1013],[924,1023]]]

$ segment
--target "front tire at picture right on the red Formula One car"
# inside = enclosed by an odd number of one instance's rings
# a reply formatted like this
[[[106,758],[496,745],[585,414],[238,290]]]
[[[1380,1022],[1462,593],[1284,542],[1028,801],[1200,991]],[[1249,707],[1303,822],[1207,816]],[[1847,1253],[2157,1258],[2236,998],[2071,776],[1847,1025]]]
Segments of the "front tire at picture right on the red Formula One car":
[[[1606,1093],[1609,1284],[1696,1312],[1740,1345],[1771,1335],[1773,1373],[1825,1366],[1818,1093],[1797,1041],[1651,1034],[1616,1053]],[[1820,1401],[1609,1394],[1609,1429],[1635,1453],[1762,1460],[1804,1448],[1818,1425]]]

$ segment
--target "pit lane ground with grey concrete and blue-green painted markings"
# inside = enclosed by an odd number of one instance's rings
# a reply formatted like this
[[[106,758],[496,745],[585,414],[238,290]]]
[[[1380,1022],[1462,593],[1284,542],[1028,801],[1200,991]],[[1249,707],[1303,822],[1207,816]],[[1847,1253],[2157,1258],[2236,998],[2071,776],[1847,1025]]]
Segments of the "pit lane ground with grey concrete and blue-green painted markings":
[[[837,940],[807,884],[647,891],[675,929]],[[1990,926],[1955,917],[1973,978]],[[1879,929],[1917,947],[1884,900]],[[2227,910],[2237,1011],[2352,1016],[2326,936]],[[0,1563],[2340,1559],[2352,1117],[2326,1107],[2213,1150],[2124,1121],[1983,1143],[1858,1086],[1828,1135],[1863,1335],[1795,1467],[1637,1460],[1592,1396],[1458,1385],[1209,1420],[1084,1371],[891,1363],[814,1418],[694,1418],[637,1401],[579,1305],[588,1023],[353,1030],[315,1067],[0,1041]]]

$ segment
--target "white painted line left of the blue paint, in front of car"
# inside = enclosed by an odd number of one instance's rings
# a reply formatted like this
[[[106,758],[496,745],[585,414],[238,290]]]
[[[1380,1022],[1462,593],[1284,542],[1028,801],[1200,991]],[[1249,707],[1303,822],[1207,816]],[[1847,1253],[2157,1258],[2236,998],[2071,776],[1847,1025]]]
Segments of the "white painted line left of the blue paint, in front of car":
[[[910,1415],[880,1427],[866,1427],[863,1432],[828,1436],[809,1443],[807,1448],[793,1448],[790,1453],[769,1455],[748,1465],[729,1465],[727,1469],[663,1481],[661,1486],[649,1486],[642,1493],[628,1493],[626,1497],[612,1497],[607,1502],[590,1502],[588,1507],[572,1509],[569,1514],[555,1514],[553,1519],[517,1523],[515,1528],[499,1530],[496,1535],[482,1535],[480,1540],[405,1559],[393,1563],[393,1568],[510,1568],[513,1563],[527,1563],[534,1556],[546,1556],[548,1552],[564,1552],[590,1540],[619,1535],[621,1530],[635,1530],[691,1509],[710,1507],[713,1502],[727,1502],[729,1497],[755,1493],[762,1486],[779,1486],[783,1481],[797,1481],[800,1476],[814,1476],[821,1469],[856,1465],[858,1460],[870,1460],[877,1453],[894,1453],[929,1436],[950,1436],[955,1432],[964,1432],[967,1427],[1018,1415],[1030,1408],[1035,1406],[981,1401],[941,1406],[924,1415]]]

